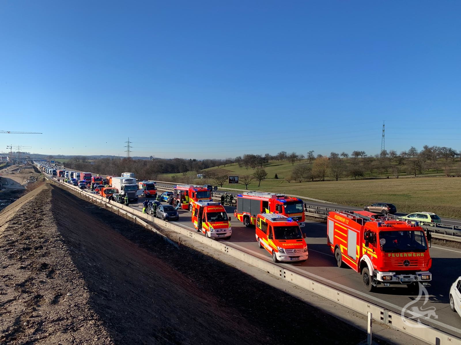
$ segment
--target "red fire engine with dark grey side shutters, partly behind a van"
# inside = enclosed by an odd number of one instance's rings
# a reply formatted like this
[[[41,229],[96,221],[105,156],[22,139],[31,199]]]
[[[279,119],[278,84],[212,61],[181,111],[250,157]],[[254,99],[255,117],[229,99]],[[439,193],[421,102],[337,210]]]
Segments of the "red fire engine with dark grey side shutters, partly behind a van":
[[[284,194],[265,192],[245,192],[237,195],[236,219],[245,226],[256,224],[259,213],[279,213],[291,218],[302,228],[306,217],[301,199]]]

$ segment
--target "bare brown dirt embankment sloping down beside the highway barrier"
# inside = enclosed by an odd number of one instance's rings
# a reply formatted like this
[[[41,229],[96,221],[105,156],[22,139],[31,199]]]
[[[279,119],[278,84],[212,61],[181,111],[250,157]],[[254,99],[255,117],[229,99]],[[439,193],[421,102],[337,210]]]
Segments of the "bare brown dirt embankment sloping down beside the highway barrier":
[[[0,224],[5,344],[357,344],[365,337],[52,184],[7,207]]]

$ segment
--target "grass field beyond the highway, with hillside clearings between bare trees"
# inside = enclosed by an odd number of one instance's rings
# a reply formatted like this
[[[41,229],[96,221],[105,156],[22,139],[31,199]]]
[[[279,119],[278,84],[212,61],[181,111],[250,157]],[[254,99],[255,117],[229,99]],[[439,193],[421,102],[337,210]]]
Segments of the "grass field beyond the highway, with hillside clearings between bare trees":
[[[397,212],[434,212],[443,217],[461,219],[461,178],[405,176],[400,178],[357,179],[324,182],[291,182],[283,176],[291,172],[292,165],[288,162],[271,161],[265,167],[268,179],[248,186],[248,190],[261,190],[306,196],[314,199],[335,203],[365,206],[377,201],[391,202],[397,207]],[[295,163],[299,164],[299,162]],[[252,174],[253,169],[239,168],[237,164],[222,167],[232,171],[237,176]],[[278,179],[274,179],[275,173]],[[189,173],[195,176],[195,173]],[[168,174],[181,178],[183,174]],[[195,180],[196,184],[214,184],[212,181]],[[245,189],[244,185],[224,184],[225,188]]]

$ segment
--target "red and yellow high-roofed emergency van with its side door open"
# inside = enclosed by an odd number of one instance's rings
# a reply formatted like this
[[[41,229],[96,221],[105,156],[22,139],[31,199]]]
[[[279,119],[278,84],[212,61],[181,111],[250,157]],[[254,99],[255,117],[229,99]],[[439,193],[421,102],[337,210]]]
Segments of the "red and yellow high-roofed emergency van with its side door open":
[[[197,232],[206,237],[231,238],[231,217],[227,217],[224,206],[213,201],[192,201],[192,223]]]

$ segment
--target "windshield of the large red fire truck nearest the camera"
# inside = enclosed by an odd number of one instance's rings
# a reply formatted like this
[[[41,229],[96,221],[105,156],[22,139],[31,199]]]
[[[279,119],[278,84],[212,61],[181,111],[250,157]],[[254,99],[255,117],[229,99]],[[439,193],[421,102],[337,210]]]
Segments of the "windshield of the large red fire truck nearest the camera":
[[[424,252],[426,237],[422,231],[379,231],[379,243],[384,252]]]

